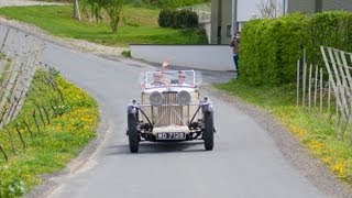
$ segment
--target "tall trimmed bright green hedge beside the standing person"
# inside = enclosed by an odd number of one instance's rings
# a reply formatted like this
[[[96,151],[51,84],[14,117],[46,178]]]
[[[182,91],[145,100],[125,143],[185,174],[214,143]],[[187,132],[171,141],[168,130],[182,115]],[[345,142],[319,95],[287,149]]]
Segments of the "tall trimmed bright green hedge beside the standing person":
[[[252,20],[242,30],[241,73],[251,85],[296,81],[297,61],[323,66],[320,45],[352,52],[352,13],[293,13],[276,20]],[[244,77],[244,78],[243,78]]]

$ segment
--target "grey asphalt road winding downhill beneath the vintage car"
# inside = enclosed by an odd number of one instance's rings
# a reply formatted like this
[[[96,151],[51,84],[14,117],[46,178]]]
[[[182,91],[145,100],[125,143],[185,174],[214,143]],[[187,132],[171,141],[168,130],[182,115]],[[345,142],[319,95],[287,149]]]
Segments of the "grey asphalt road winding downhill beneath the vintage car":
[[[326,197],[279,152],[267,132],[232,103],[207,91],[216,107],[215,150],[202,142],[141,143],[131,154],[125,136],[125,107],[140,97],[140,74],[153,66],[107,59],[47,43],[41,61],[86,89],[101,108],[103,140],[70,173],[52,178],[45,197],[233,198]],[[205,82],[231,74],[206,73]]]

